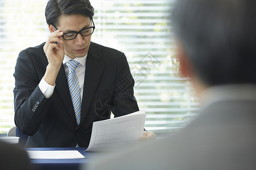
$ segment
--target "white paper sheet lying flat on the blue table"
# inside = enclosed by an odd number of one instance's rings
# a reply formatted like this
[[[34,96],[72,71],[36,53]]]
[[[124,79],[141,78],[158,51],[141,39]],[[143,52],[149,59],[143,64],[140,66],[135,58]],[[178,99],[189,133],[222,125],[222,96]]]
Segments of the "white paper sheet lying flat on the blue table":
[[[79,151],[30,151],[27,150],[30,159],[80,159],[85,158]]]

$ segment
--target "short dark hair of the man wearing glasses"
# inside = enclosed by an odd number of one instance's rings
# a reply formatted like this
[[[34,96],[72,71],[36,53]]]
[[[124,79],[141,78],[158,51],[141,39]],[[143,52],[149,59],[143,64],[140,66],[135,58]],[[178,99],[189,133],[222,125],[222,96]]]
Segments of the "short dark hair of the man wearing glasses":
[[[47,24],[58,25],[58,19],[61,15],[68,16],[80,14],[93,18],[94,8],[89,0],[49,0],[46,6]]]

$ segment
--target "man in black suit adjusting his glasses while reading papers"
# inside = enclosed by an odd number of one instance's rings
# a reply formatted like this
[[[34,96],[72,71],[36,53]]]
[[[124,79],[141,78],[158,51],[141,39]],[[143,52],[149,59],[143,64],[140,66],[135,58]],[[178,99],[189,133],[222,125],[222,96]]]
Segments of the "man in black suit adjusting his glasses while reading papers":
[[[86,147],[94,121],[139,110],[134,80],[125,54],[90,42],[89,0],[50,0],[45,14],[48,40],[20,52],[16,62],[15,124],[30,135],[27,147]]]

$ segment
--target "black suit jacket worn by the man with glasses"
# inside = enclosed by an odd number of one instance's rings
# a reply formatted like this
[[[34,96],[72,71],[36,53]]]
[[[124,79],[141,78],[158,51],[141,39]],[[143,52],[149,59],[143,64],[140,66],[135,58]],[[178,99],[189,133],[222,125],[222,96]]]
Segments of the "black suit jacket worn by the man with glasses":
[[[77,126],[67,78],[62,65],[53,95],[47,99],[38,84],[48,65],[43,45],[20,52],[15,66],[15,124],[27,135],[28,147],[89,145],[94,121],[138,111],[134,79],[125,54],[90,43],[86,58],[81,122]]]

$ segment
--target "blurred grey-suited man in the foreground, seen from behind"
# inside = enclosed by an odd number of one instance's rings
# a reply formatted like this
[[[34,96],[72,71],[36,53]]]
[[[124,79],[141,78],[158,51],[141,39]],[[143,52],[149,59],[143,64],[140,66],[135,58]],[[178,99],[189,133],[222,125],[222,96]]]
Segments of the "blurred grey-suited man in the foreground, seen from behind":
[[[197,118],[148,146],[107,156],[92,169],[256,168],[256,2],[178,0],[177,57],[202,102]]]

